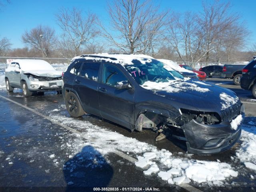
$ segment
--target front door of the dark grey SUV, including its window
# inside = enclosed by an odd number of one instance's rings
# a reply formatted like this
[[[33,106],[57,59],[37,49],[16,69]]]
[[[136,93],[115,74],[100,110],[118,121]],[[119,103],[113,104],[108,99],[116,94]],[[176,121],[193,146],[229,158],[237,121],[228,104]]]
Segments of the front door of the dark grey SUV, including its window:
[[[98,95],[103,118],[130,127],[134,122],[134,89],[118,90],[120,82],[129,82],[126,75],[111,64],[104,64]]]

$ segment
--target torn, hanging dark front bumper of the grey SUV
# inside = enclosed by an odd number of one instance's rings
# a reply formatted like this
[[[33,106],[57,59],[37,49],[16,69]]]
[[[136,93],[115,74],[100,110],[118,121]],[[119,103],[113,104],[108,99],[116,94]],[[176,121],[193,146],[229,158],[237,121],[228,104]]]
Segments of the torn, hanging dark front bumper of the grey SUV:
[[[240,114],[244,120],[244,106]],[[232,129],[229,121],[220,124],[201,124],[195,120],[182,126],[186,137],[186,145],[189,153],[214,154],[230,149],[240,138],[241,124],[236,130]]]

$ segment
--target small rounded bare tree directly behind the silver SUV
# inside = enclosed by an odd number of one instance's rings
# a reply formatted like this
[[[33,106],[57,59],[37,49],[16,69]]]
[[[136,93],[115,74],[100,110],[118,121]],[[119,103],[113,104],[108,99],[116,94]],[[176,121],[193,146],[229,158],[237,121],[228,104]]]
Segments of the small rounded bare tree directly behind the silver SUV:
[[[49,56],[52,48],[56,45],[56,40],[55,30],[49,26],[39,25],[22,35],[22,41],[28,46],[41,51],[43,57]]]

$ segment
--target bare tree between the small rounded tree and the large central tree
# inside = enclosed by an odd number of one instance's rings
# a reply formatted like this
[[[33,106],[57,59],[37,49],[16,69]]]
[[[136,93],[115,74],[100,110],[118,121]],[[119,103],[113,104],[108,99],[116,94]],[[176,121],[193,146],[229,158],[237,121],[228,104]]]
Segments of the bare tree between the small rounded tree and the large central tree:
[[[93,40],[99,31],[95,27],[96,14],[87,12],[83,16],[82,11],[77,8],[72,10],[62,8],[56,14],[57,24],[62,29],[60,38],[60,50],[68,57],[77,56],[81,48]]]

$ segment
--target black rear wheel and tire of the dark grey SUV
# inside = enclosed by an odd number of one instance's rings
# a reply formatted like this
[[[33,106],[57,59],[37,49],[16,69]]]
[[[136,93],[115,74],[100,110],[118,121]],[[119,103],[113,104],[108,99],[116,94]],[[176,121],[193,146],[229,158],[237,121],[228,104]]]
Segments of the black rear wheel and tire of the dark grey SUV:
[[[73,92],[68,92],[66,94],[66,108],[68,110],[68,113],[72,117],[80,117],[84,114],[84,110],[76,96]]]

